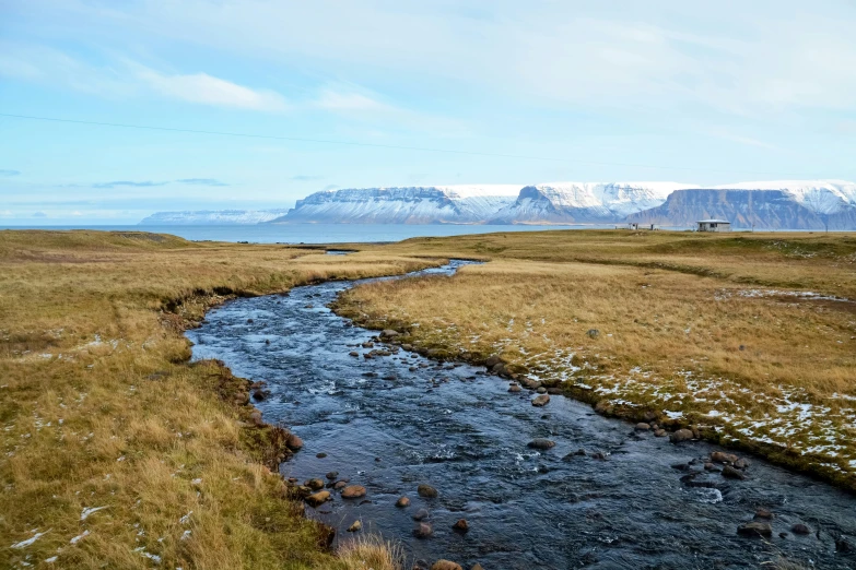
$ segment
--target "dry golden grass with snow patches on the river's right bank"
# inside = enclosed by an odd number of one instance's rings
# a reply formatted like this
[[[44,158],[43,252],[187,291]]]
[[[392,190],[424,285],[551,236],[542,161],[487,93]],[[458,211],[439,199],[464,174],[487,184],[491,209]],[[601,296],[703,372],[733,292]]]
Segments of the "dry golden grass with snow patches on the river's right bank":
[[[791,295],[856,298],[853,236],[550,231],[370,249],[490,263],[354,289],[340,310],[364,323],[502,354],[577,396],[668,411],[856,487],[856,304]]]

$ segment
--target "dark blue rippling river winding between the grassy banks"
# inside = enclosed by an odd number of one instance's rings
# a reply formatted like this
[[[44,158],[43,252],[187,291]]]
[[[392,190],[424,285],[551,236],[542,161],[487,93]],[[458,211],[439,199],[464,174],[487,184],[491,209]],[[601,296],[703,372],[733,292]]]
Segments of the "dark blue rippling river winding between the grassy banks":
[[[449,275],[465,263],[411,276]],[[689,487],[688,472],[673,465],[720,448],[636,434],[561,396],[533,407],[528,391],[508,393],[506,381],[468,365],[403,351],[349,356],[368,352],[357,345],[376,332],[326,305],[360,283],[236,299],[187,333],[195,359],[219,358],[237,376],[267,382],[271,394],[256,406],[305,442],[282,464],[284,476],[303,482],[335,471],[366,487],[362,500],[333,494],[318,509],[306,507],[337,527],[338,539],[348,539],[345,529],[359,519],[361,532],[400,542],[409,563],[447,558],[488,570],[775,568],[762,565],[781,558],[856,568],[856,497],[845,491],[758,458],[750,458],[747,480],[711,472],[694,482],[712,487]],[[555,447],[529,449],[533,438]],[[573,454],[581,449],[585,455]],[[420,498],[423,483],[439,496]],[[396,508],[404,495],[410,507]],[[422,508],[434,530],[426,539],[412,536]],[[738,536],[759,508],[775,514],[773,537]],[[467,534],[452,529],[461,518]],[[794,534],[797,523],[811,534]]]

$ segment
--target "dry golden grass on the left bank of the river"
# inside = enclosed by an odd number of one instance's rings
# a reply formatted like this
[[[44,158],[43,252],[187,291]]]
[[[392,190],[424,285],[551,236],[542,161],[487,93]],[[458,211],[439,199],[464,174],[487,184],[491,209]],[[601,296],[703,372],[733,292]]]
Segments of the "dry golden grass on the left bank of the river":
[[[362,568],[324,550],[261,464],[265,430],[219,396],[228,373],[188,365],[180,331],[230,295],[426,263],[0,231],[0,567]]]

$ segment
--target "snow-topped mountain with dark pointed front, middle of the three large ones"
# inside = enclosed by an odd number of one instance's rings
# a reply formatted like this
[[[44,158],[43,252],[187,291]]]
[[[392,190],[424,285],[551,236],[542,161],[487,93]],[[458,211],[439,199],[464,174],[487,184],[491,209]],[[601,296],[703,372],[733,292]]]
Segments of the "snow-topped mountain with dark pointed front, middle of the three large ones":
[[[681,182],[551,182],[527,186],[492,218],[501,224],[613,223],[658,206]]]

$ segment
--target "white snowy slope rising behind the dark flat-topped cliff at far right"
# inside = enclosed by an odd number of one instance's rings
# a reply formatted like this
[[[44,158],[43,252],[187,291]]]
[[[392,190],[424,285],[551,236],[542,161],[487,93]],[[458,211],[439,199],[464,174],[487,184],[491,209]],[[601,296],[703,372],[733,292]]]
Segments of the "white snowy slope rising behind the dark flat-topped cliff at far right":
[[[715,186],[722,190],[782,190],[818,214],[836,214],[856,205],[856,183],[846,180],[773,180]]]

